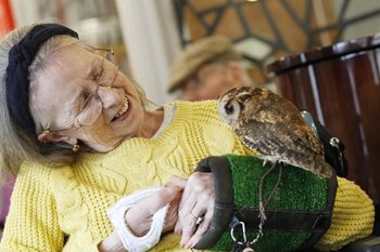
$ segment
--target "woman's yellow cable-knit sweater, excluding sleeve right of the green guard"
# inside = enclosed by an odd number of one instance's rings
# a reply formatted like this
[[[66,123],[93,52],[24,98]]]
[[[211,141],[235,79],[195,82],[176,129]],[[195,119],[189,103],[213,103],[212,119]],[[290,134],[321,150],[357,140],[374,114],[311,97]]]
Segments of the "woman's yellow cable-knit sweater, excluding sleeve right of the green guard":
[[[220,121],[217,102],[177,102],[173,122],[156,138],[131,138],[107,154],[86,154],[73,167],[23,163],[0,251],[97,251],[113,227],[106,209],[138,189],[188,177],[211,155],[252,154]],[[64,237],[67,237],[64,246]],[[165,235],[152,251],[179,249]]]

